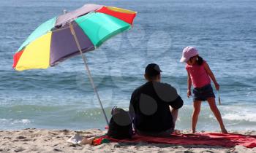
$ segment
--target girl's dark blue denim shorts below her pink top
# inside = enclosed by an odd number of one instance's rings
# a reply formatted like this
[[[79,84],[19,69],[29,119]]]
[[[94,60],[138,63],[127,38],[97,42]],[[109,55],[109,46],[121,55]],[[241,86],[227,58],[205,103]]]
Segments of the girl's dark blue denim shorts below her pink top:
[[[203,87],[195,87],[193,89],[193,100],[194,101],[207,101],[207,98],[215,98],[214,90],[211,87],[211,84]]]

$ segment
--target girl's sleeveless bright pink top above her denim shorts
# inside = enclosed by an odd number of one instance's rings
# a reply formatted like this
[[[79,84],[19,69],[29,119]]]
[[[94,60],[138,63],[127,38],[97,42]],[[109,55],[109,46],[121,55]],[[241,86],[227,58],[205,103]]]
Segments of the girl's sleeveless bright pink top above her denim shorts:
[[[210,76],[207,74],[204,64],[206,61],[203,61],[203,64],[199,66],[194,64],[193,66],[186,65],[187,71],[189,71],[190,78],[192,80],[192,85],[194,87],[203,87],[205,85],[211,84]]]

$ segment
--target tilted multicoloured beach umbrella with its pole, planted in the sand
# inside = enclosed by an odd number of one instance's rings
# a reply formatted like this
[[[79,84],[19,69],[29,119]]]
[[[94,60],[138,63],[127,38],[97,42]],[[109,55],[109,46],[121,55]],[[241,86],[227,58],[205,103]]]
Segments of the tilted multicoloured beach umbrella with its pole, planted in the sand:
[[[75,11],[53,17],[23,42],[14,55],[12,67],[17,71],[48,68],[80,54],[102,107],[83,52],[95,50],[110,37],[132,28],[136,13],[117,7],[86,4]],[[105,115],[103,107],[102,111]],[[108,123],[106,115],[105,119]]]

